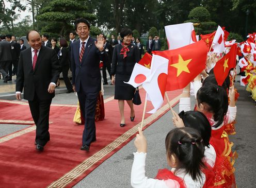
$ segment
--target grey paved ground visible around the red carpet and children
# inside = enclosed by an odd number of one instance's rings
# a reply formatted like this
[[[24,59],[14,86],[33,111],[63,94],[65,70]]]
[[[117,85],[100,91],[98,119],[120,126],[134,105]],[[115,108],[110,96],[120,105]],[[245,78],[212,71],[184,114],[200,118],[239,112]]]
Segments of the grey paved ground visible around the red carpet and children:
[[[238,159],[235,163],[236,182],[237,187],[254,188],[256,187],[256,108],[255,102],[249,97],[249,93],[245,91],[244,87],[239,87],[238,84],[236,83],[240,98],[237,102],[237,134],[230,136],[231,141],[234,142],[233,148],[238,152]],[[104,90],[104,98],[114,94],[113,86],[108,85],[104,87]],[[58,94],[53,99],[53,103],[77,104],[77,97],[74,94]],[[105,110],[107,113],[107,109]],[[178,111],[178,107],[174,107],[174,110]],[[24,127],[26,126],[0,124],[0,136],[23,129]],[[159,168],[168,167],[165,157],[164,140],[167,132],[172,128],[171,114],[167,112],[144,131],[148,139],[146,176],[155,177]],[[125,145],[74,187],[131,187],[130,174],[133,152],[135,151],[133,142],[134,140]]]

